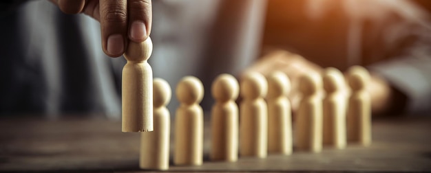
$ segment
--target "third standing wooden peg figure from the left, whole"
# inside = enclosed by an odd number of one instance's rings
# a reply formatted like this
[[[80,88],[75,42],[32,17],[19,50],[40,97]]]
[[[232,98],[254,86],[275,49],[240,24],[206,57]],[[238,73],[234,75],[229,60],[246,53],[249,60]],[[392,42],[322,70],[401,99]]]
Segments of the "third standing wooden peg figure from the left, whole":
[[[211,110],[211,150],[213,161],[238,160],[238,106],[240,87],[235,77],[222,74],[212,85],[215,104]]]

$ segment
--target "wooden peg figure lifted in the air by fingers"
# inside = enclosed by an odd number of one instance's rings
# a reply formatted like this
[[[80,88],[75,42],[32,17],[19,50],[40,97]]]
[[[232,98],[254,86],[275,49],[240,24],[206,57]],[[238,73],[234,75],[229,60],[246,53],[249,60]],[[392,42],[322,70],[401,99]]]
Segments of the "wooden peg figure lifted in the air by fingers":
[[[153,51],[151,38],[143,43],[129,41],[124,57],[122,84],[122,131],[153,130],[153,71],[147,60]]]

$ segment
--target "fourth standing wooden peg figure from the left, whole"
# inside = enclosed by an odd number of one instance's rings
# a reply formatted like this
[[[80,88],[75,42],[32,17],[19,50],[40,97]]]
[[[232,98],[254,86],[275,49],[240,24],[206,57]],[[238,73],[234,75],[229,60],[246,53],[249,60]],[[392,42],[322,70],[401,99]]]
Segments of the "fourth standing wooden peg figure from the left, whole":
[[[247,73],[242,79],[240,94],[240,155],[265,158],[268,145],[268,115],[263,97],[268,84],[262,74]]]

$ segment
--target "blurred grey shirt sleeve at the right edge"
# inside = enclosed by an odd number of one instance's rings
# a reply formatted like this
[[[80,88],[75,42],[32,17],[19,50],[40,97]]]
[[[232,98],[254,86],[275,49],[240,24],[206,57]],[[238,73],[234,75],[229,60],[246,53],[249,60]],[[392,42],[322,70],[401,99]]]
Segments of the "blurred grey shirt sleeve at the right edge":
[[[410,113],[431,111],[431,39],[427,33],[406,54],[369,67],[408,97]]]

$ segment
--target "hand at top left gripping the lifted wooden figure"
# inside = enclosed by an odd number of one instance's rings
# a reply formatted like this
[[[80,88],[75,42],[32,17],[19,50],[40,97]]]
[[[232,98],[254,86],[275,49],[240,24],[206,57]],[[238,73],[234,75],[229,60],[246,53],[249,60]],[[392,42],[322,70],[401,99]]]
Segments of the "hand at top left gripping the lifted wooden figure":
[[[101,23],[102,47],[121,56],[128,39],[145,41],[151,32],[151,0],[50,0],[67,14],[84,13]]]

